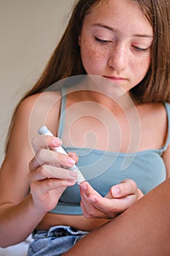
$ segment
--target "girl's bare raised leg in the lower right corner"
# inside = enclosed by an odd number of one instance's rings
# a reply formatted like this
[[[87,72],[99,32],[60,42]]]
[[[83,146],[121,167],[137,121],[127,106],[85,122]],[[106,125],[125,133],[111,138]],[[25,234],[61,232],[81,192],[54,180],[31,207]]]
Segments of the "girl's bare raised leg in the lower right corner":
[[[170,178],[64,255],[168,256],[169,230]]]

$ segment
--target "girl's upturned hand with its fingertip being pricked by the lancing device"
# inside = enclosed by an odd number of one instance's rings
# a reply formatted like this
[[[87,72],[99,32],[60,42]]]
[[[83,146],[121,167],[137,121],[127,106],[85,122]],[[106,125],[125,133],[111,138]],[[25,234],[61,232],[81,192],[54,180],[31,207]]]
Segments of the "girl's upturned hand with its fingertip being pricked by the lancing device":
[[[105,197],[99,195],[87,181],[83,181],[80,184],[80,194],[82,213],[88,219],[113,219],[143,196],[131,179],[111,187]]]

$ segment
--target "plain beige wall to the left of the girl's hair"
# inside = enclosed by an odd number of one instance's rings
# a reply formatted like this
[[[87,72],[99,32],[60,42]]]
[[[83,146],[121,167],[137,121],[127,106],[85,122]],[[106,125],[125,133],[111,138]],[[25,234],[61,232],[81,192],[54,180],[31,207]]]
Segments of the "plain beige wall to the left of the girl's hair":
[[[12,111],[45,67],[75,1],[0,0],[0,164]]]

